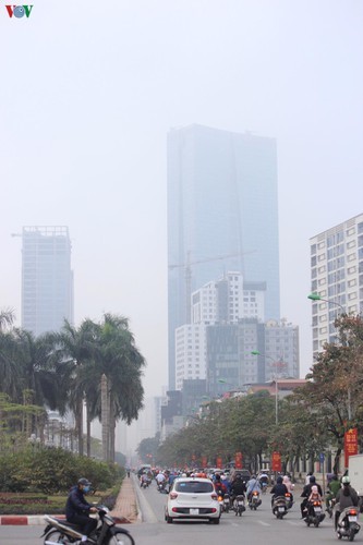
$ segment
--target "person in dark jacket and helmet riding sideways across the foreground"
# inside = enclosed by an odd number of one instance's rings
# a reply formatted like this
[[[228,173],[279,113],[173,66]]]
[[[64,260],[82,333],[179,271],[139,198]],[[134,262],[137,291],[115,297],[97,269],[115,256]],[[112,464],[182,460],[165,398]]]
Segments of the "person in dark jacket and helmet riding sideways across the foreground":
[[[88,504],[84,497],[89,489],[89,481],[85,477],[81,477],[77,485],[71,488],[65,504],[66,520],[68,522],[81,526],[83,544],[89,543],[88,536],[97,526],[97,520],[89,517],[90,512],[97,512],[97,507]]]

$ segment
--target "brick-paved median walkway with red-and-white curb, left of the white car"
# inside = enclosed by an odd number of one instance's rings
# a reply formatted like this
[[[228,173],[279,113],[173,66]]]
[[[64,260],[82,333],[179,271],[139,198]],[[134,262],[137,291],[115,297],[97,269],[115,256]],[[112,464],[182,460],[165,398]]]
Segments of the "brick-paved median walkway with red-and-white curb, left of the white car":
[[[118,517],[121,524],[129,524],[141,521],[141,512],[136,494],[134,489],[134,476],[124,477],[121,491],[116,500],[114,508],[110,514]],[[57,514],[58,519],[65,518],[62,514]],[[44,525],[45,520],[43,514],[0,514],[0,525]]]

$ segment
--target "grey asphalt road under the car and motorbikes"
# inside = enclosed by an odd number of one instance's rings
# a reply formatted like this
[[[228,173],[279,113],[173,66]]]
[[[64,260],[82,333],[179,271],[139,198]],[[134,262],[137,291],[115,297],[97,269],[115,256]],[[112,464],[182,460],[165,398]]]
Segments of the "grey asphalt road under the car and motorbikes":
[[[326,519],[317,529],[306,528],[300,519],[300,498],[292,510],[281,521],[270,511],[269,495],[263,496],[263,504],[257,511],[247,510],[243,516],[222,514],[219,525],[205,522],[176,522],[167,524],[164,520],[166,495],[157,492],[153,485],[140,491],[143,508],[146,508],[146,522],[129,524],[128,530],[136,545],[181,545],[181,544],[239,544],[257,543],[268,545],[310,545],[337,543],[332,522]],[[146,507],[145,507],[146,506]],[[41,545],[41,526],[0,526],[1,545]],[[363,540],[363,532],[356,541]]]

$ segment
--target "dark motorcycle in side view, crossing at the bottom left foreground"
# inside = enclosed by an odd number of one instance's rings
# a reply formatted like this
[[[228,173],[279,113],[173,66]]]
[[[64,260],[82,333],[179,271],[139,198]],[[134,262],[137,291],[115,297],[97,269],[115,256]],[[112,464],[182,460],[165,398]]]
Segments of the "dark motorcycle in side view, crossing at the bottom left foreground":
[[[109,514],[107,507],[99,506],[97,514],[97,526],[88,536],[88,543],[94,545],[135,545],[135,542],[128,530],[118,526],[121,522],[117,517]],[[45,516],[48,522],[44,533],[44,545],[58,544],[81,544],[82,532],[77,524],[68,522],[64,519],[57,519],[49,514]]]

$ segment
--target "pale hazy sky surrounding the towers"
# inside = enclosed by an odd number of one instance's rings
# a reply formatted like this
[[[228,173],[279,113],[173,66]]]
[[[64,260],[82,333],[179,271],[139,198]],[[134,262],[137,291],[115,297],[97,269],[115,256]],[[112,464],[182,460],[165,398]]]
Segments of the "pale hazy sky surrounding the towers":
[[[281,315],[311,365],[308,239],[363,211],[361,0],[0,5],[0,308],[21,317],[23,226],[68,226],[75,319],[130,318],[167,384],[166,138],[277,138]],[[268,235],[268,233],[266,233]]]

